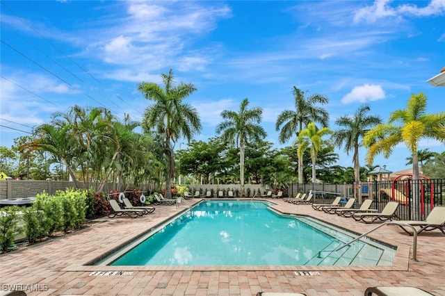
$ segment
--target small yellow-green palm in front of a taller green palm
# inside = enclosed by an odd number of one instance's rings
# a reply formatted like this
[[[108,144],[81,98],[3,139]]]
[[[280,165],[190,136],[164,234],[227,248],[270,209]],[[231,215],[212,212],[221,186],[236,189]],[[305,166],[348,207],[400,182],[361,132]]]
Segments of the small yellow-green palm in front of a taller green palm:
[[[316,161],[318,151],[322,148],[322,137],[323,135],[328,135],[332,133],[332,131],[323,127],[322,129],[318,129],[314,122],[307,124],[307,129],[303,129],[300,131],[298,138],[301,142],[302,146],[309,146],[311,151],[311,159],[312,159],[312,183],[316,181]],[[299,153],[300,154],[300,153]],[[302,153],[301,153],[302,154]]]

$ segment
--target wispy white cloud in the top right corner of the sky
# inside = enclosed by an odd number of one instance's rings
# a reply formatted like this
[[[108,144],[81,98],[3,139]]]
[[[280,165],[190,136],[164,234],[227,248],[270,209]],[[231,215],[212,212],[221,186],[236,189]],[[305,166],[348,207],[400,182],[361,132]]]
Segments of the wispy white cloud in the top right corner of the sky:
[[[372,6],[366,6],[357,10],[354,15],[354,22],[362,20],[372,23],[377,19],[385,17],[403,17],[414,15],[416,17],[427,17],[431,15],[443,15],[445,13],[445,0],[432,0],[427,6],[419,7],[411,4],[391,7],[391,0],[375,0]],[[398,2],[396,2],[398,3]],[[425,3],[421,1],[420,3]]]

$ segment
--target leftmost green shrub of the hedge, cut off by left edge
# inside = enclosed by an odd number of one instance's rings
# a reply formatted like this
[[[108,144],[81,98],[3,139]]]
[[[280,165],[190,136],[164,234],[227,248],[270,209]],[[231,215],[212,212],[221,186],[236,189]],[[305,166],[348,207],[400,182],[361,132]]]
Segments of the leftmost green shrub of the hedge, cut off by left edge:
[[[2,252],[8,252],[8,247],[14,243],[17,234],[22,233],[19,227],[19,207],[6,206],[0,212],[0,247]]]

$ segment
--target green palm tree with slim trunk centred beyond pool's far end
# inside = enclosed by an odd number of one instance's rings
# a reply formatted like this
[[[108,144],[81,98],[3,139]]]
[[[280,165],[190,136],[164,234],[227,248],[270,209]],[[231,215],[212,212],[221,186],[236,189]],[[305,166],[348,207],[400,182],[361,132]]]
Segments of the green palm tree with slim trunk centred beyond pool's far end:
[[[241,102],[239,112],[223,110],[223,122],[216,126],[216,133],[222,133],[221,138],[231,145],[239,146],[239,171],[241,183],[241,196],[244,195],[244,145],[250,140],[257,142],[266,138],[266,131],[259,125],[262,108],[248,108],[249,100]]]

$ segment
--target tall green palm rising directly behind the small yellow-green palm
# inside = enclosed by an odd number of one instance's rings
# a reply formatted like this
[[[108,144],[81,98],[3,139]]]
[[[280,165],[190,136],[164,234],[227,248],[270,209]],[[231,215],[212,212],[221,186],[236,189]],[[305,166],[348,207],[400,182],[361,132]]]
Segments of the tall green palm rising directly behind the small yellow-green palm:
[[[280,131],[279,140],[281,143],[289,140],[293,135],[298,134],[309,122],[320,123],[327,126],[329,114],[327,111],[316,104],[327,104],[327,97],[321,94],[312,94],[305,97],[305,92],[293,87],[294,110],[284,110],[277,117],[275,130]],[[298,158],[298,183],[303,183],[303,160]]]

